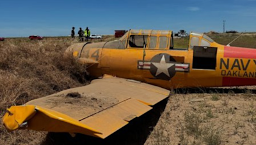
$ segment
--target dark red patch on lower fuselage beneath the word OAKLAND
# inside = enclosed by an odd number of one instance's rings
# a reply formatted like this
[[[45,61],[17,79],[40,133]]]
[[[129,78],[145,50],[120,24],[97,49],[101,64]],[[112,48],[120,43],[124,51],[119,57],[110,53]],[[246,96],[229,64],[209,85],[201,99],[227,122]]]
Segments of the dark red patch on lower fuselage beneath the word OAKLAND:
[[[223,77],[223,86],[245,86],[245,85],[256,85],[256,79],[253,78],[232,78]]]

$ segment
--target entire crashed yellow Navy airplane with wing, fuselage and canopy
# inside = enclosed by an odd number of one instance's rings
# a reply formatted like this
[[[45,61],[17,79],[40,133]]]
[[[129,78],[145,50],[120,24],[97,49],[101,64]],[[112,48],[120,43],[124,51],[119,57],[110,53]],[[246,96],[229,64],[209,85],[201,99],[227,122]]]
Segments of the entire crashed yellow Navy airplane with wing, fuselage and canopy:
[[[3,117],[7,130],[104,139],[173,88],[256,85],[256,50],[223,46],[195,32],[187,49],[173,46],[172,31],[130,30],[116,41],[77,43],[65,55],[86,64],[89,75],[99,79],[10,107]]]

